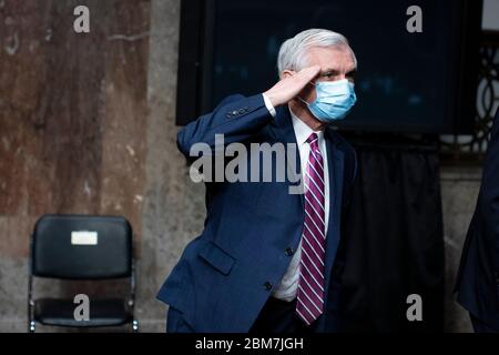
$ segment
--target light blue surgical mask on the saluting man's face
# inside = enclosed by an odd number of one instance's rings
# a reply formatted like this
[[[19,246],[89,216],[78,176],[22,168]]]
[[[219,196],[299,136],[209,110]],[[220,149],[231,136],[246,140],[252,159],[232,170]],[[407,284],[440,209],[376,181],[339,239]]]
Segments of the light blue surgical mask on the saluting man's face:
[[[344,119],[357,101],[354,84],[347,79],[319,81],[314,85],[317,94],[314,102],[308,103],[302,98],[299,100],[319,121],[329,123]]]

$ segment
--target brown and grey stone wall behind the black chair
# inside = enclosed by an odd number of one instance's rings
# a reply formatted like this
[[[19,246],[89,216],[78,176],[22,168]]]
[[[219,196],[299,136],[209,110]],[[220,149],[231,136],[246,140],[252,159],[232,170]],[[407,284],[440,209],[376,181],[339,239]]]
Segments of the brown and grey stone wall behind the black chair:
[[[88,34],[73,31],[79,4]],[[129,219],[136,314],[143,331],[164,329],[154,295],[204,217],[175,145],[179,20],[180,0],[0,1],[0,332],[26,329],[29,235],[43,213]]]

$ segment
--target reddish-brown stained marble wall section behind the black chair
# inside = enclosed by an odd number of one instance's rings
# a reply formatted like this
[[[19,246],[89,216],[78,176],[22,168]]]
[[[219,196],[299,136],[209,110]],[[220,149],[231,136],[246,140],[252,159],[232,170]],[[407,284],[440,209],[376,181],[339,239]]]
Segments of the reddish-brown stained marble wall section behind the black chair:
[[[80,4],[90,33],[73,30]],[[0,331],[26,329],[42,214],[123,215],[141,256],[150,11],[150,0],[0,1]]]

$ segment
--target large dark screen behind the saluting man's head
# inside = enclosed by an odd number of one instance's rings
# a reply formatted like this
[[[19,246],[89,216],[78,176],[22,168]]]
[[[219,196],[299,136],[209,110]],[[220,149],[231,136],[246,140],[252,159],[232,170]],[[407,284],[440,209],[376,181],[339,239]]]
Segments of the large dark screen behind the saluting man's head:
[[[410,18],[406,11],[414,4],[422,9],[421,33],[406,30]],[[278,80],[276,58],[282,42],[305,29],[326,28],[346,36],[358,59],[358,101],[342,129],[469,132],[472,111],[459,97],[473,92],[476,85],[476,71],[469,64],[477,57],[465,54],[477,53],[472,39],[479,31],[480,9],[480,1],[461,0],[210,0],[197,4],[187,0],[181,29],[177,123],[213,110],[232,93],[267,90]],[[196,11],[197,41],[193,40],[195,26],[187,21]],[[197,77],[192,78],[196,70]]]

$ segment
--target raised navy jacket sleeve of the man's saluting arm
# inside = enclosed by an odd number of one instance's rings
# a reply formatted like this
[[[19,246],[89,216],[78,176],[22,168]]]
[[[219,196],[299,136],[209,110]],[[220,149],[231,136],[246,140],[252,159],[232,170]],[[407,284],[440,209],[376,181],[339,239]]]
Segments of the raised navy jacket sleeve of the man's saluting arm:
[[[224,99],[213,112],[200,116],[177,134],[179,150],[187,159],[191,148],[205,143],[215,149],[215,134],[223,134],[224,145],[242,142],[265,126],[273,119],[262,94],[245,98],[241,94]]]

